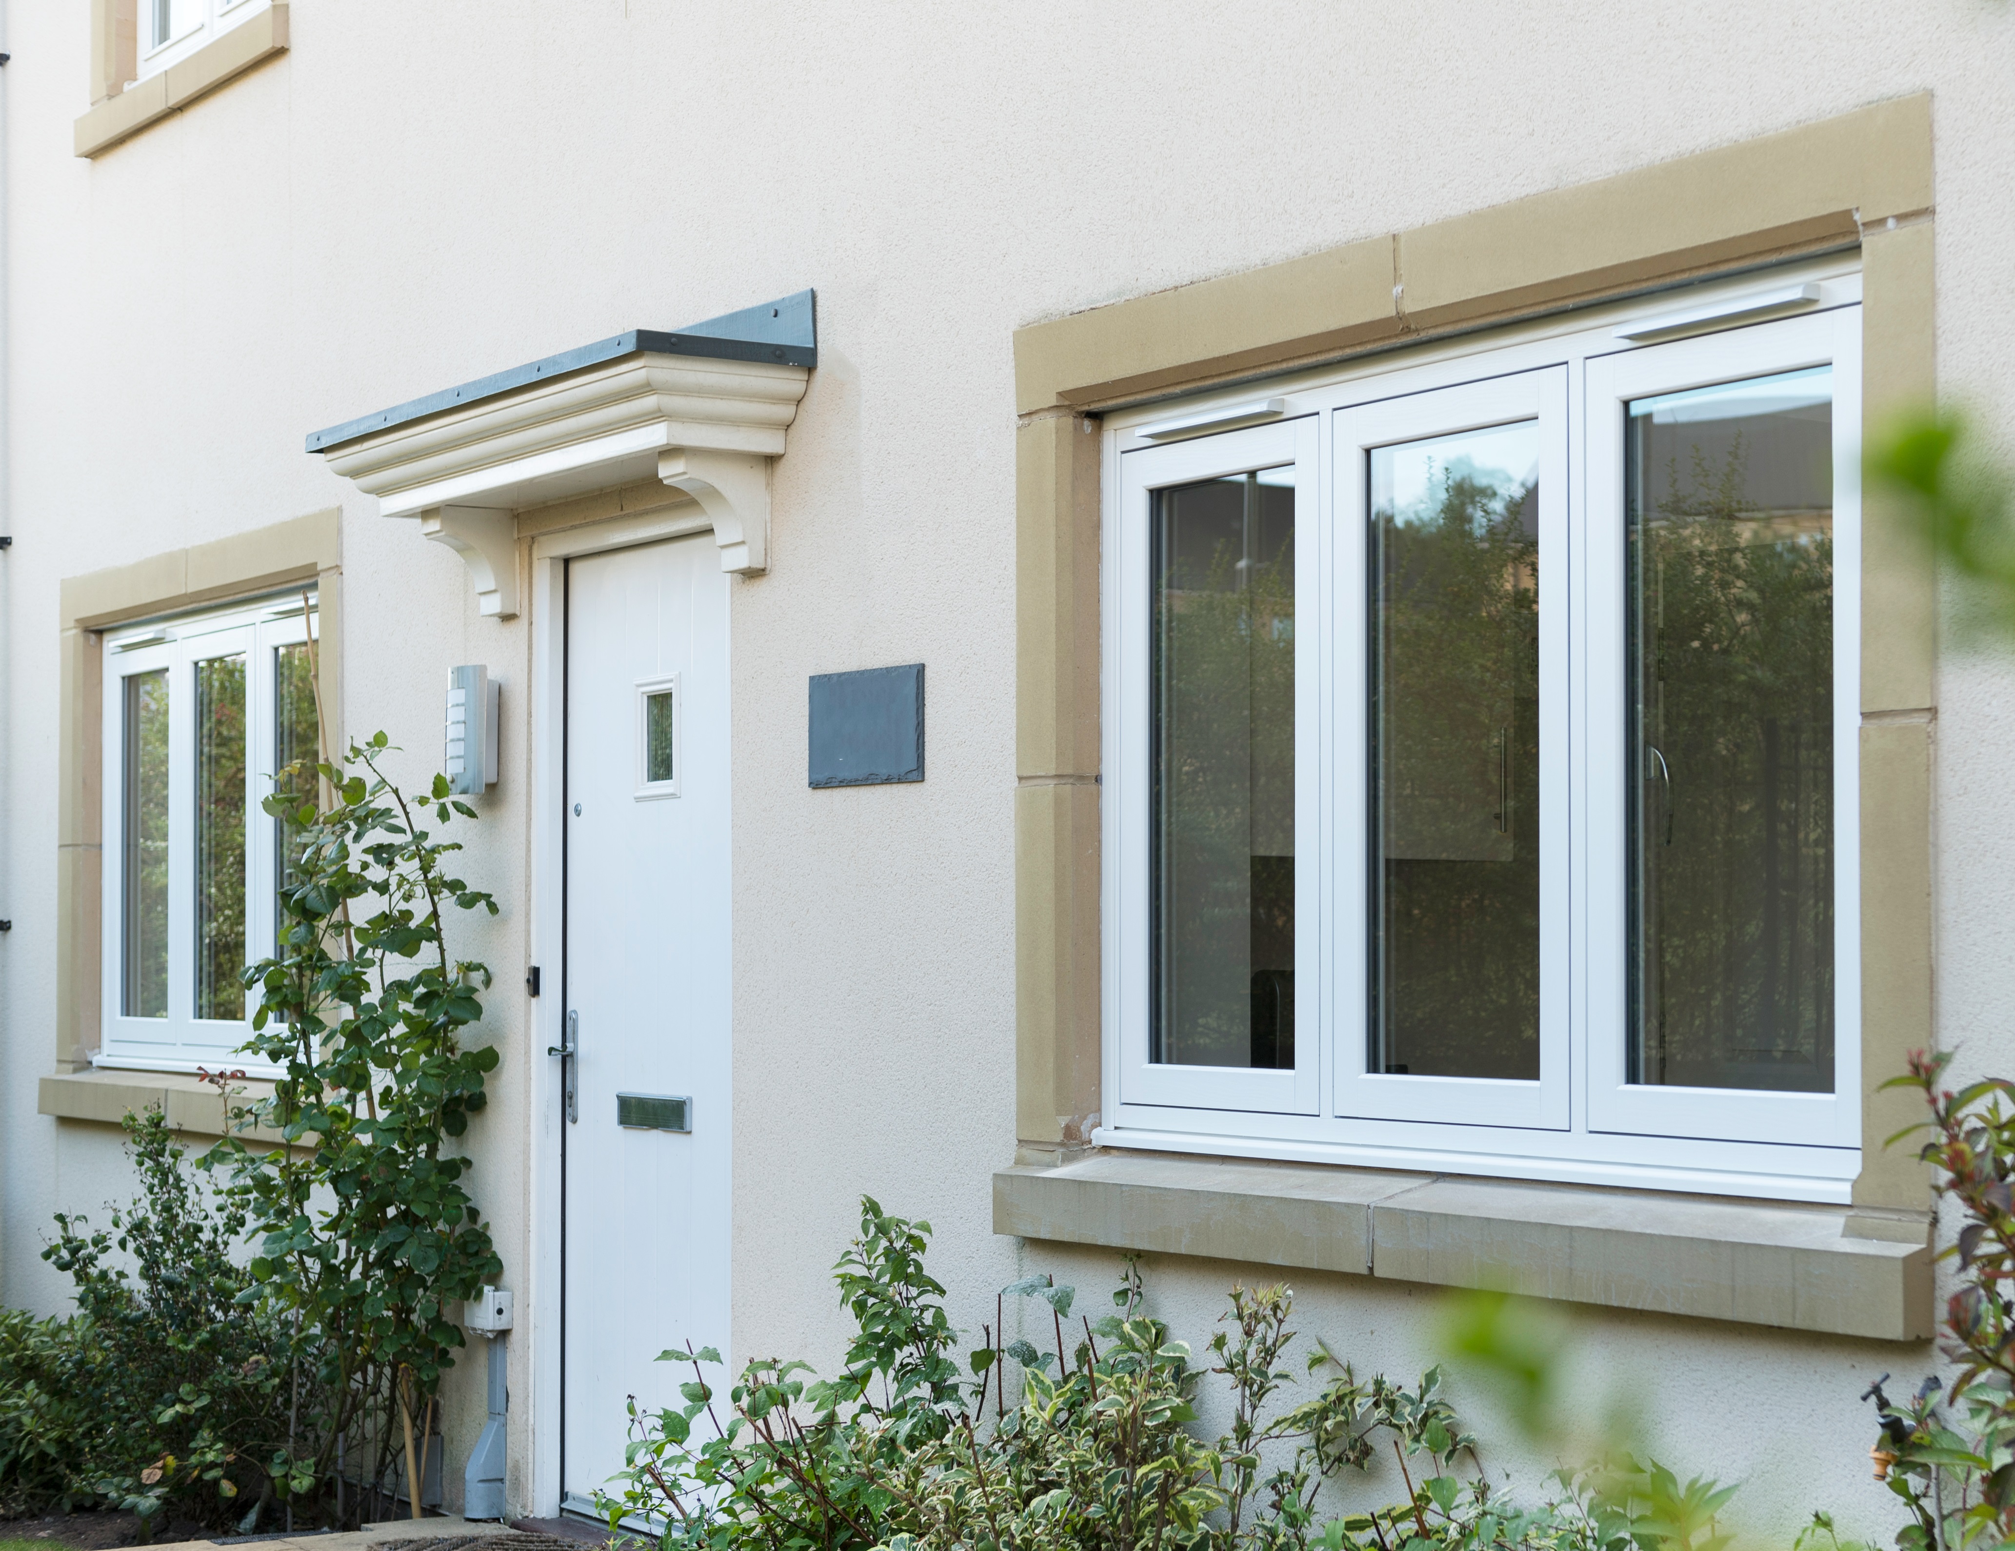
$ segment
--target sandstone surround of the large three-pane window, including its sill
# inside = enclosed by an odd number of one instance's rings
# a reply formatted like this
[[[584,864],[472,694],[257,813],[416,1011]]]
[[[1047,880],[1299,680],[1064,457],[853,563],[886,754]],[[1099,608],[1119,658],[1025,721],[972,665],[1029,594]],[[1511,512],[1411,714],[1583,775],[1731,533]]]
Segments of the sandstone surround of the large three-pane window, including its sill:
[[[1864,1162],[1844,1209],[1094,1150],[1104,411],[1860,248],[1864,423],[1934,391],[1930,97],[1016,330],[1016,1166],[995,1233],[1920,1340],[1932,562],[1864,498]],[[1348,1219],[1348,1221],[1346,1221]],[[1717,1241],[1727,1253],[1681,1253]],[[1660,1253],[1660,1245],[1664,1245]]]

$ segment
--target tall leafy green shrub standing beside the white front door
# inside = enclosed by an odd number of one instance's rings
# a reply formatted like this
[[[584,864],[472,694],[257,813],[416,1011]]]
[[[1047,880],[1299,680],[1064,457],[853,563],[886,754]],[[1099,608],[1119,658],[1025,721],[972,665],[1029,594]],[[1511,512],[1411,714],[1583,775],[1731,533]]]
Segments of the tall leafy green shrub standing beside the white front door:
[[[504,1273],[465,1184],[476,1162],[455,1146],[498,1066],[496,1047],[461,1043],[490,971],[453,959],[445,933],[451,910],[498,906],[445,870],[461,846],[437,838],[476,810],[445,776],[423,796],[401,792],[379,769],[389,749],[375,733],[343,763],[288,767],[266,798],[298,858],[280,890],[280,951],[244,973],[258,995],[244,1047],[282,1076],[236,1114],[288,1146],[228,1136],[204,1158],[228,1172],[256,1239],[240,1301],[306,1342],[312,1404],[276,1480],[326,1523],[389,1513],[399,1466],[427,1478],[459,1305]],[[324,812],[292,796],[316,784],[334,794]],[[347,1501],[343,1476],[361,1487]]]

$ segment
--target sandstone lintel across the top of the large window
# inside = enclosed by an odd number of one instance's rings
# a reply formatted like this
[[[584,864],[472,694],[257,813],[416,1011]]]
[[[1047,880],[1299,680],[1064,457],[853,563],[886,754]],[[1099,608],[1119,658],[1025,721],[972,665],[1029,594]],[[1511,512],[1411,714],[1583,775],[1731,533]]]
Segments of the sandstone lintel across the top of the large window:
[[[1024,415],[1852,244],[1926,209],[1930,97],[1701,151],[1016,332]]]

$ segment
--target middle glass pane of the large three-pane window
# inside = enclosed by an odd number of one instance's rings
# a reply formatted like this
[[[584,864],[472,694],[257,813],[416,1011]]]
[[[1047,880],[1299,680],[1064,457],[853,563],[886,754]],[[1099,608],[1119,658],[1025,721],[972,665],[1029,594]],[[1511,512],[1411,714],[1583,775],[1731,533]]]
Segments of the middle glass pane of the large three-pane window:
[[[1370,1070],[1539,1076],[1539,427],[1370,453]]]

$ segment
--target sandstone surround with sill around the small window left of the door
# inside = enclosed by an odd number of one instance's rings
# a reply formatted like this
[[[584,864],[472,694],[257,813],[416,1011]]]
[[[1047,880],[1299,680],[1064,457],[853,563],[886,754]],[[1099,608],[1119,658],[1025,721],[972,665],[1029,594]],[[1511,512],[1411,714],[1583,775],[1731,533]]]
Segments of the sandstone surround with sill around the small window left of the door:
[[[177,1130],[218,1136],[224,1102],[202,1078],[99,1070],[103,953],[103,632],[127,620],[314,584],[322,707],[343,725],[343,512],[330,508],[266,528],[169,550],[62,580],[60,729],[56,769],[56,1045],[38,1110],[60,1120],[119,1124],[159,1104]],[[270,1082],[240,1084],[258,1098]]]

